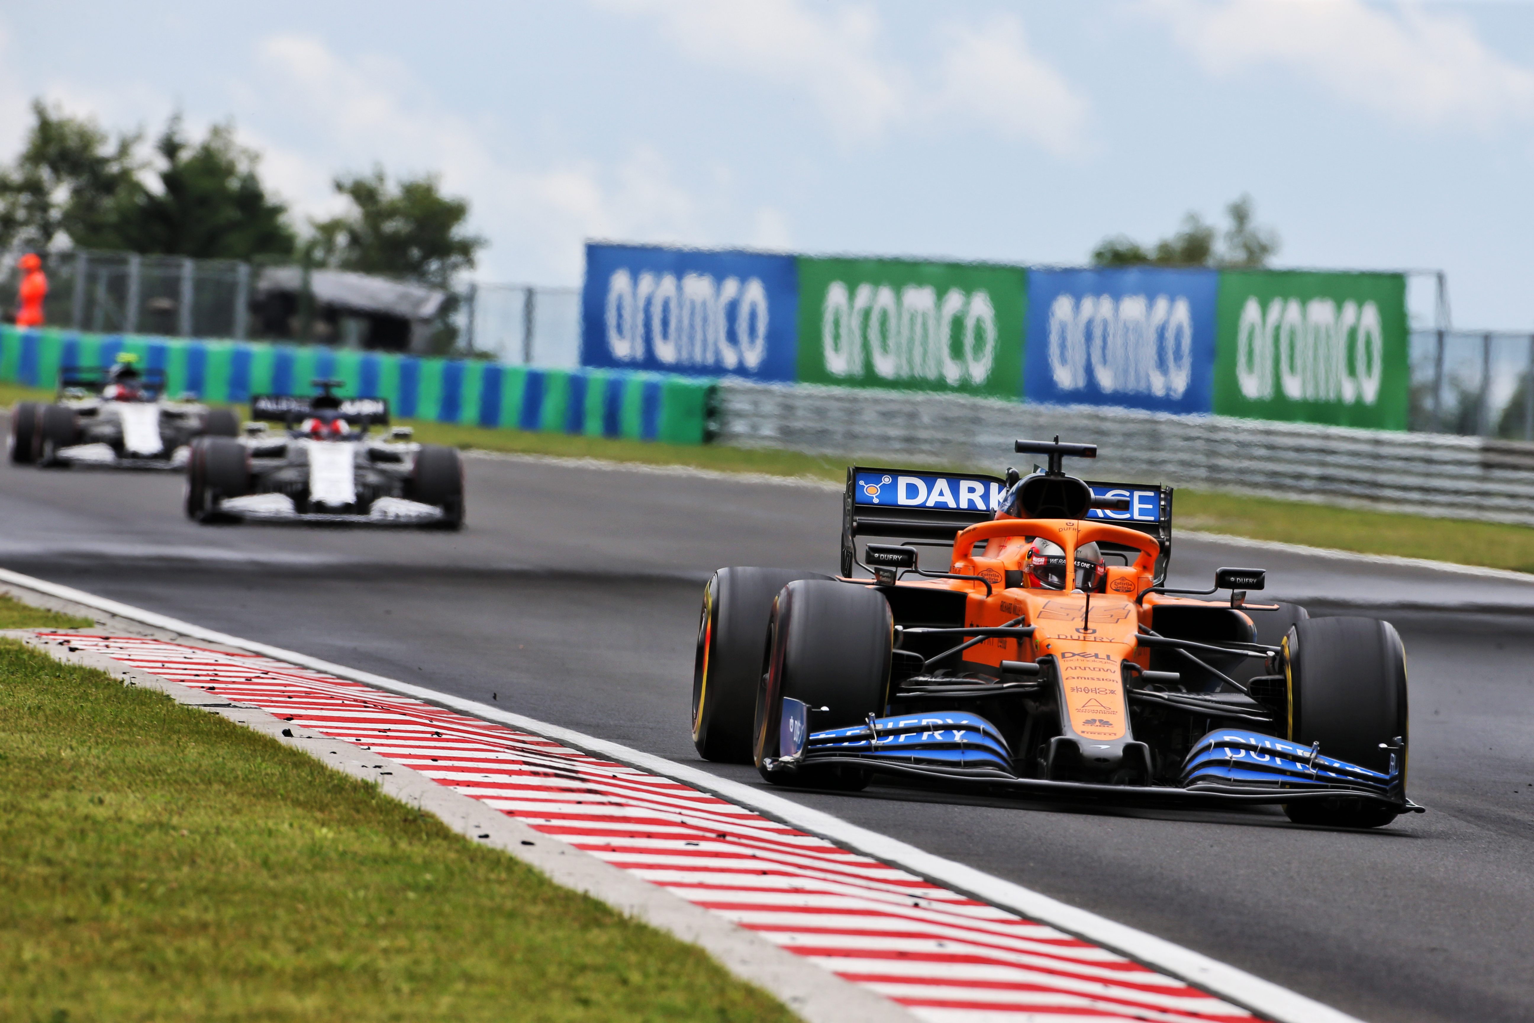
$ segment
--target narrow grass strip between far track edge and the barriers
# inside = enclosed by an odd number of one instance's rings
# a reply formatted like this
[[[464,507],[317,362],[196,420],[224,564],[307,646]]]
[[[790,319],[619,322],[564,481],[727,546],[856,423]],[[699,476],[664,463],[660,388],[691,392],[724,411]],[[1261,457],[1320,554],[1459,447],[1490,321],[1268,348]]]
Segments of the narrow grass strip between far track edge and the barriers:
[[[0,383],[0,402],[48,400],[49,394]],[[847,462],[796,451],[727,446],[667,445],[606,437],[522,433],[402,420],[423,443],[480,451],[537,454],[571,459],[604,459],[641,465],[684,465],[719,472],[762,472],[841,483]],[[943,466],[920,466],[940,469]],[[950,466],[951,468],[951,466]],[[1410,558],[1479,564],[1516,572],[1534,572],[1534,529],[1468,520],[1428,518],[1361,508],[1333,508],[1310,502],[1247,497],[1178,488],[1174,526],[1223,532],[1253,540],[1276,540],[1358,554],[1388,554]]]

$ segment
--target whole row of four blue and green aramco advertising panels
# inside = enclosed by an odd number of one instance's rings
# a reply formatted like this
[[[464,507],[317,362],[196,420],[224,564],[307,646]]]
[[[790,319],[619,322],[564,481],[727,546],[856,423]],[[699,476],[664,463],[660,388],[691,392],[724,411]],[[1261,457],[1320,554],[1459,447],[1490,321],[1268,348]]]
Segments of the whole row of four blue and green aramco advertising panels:
[[[586,247],[595,368],[1404,429],[1399,273]]]

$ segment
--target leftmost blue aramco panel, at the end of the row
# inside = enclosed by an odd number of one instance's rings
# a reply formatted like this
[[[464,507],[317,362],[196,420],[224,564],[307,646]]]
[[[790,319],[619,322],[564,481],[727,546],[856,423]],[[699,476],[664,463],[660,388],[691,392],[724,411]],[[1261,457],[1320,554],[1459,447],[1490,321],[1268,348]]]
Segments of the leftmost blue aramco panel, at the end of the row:
[[[792,382],[793,256],[586,245],[581,365]]]

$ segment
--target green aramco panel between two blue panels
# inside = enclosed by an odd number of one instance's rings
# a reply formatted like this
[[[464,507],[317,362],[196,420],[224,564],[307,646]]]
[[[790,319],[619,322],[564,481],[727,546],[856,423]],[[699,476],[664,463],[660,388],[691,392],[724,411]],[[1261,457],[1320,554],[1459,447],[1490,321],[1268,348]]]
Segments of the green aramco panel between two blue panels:
[[[1026,271],[799,259],[799,382],[985,394],[1023,388]]]

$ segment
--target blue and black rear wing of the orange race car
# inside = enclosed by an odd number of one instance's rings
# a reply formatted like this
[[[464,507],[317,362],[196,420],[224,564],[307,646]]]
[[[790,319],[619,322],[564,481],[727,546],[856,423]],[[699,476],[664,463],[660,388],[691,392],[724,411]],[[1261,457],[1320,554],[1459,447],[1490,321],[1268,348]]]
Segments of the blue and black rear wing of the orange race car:
[[[1155,584],[1160,586],[1172,552],[1172,488],[1097,480],[1086,483],[1095,497],[1129,502],[1124,511],[1094,508],[1086,514],[1088,518],[1137,529],[1161,544],[1155,566]],[[951,544],[960,529],[996,515],[1005,489],[1006,480],[999,475],[848,468],[847,491],[842,495],[842,575],[853,574],[858,537]],[[1117,552],[1112,544],[1100,546],[1104,554]]]

